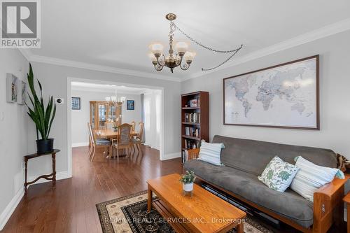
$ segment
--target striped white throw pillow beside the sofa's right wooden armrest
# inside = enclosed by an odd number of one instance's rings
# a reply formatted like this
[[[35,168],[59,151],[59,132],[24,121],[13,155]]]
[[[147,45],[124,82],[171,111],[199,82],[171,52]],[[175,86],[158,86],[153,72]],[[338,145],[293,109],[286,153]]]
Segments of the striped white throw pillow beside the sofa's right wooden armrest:
[[[295,157],[295,160],[295,166],[299,167],[299,171],[290,188],[311,202],[314,202],[314,192],[318,188],[330,183],[335,176],[344,178],[344,174],[339,169],[318,166],[301,156]]]

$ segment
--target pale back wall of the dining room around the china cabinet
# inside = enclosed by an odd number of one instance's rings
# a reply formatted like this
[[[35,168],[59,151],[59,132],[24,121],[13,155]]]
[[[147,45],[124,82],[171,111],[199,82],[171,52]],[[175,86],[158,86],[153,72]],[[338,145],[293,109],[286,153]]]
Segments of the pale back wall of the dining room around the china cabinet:
[[[114,95],[113,92],[92,92],[83,90],[72,90],[72,97],[80,97],[80,110],[71,111],[71,143],[72,146],[86,146],[89,143],[87,122],[90,122],[90,101],[104,101],[105,97]],[[122,123],[141,121],[140,94],[125,94],[118,92],[118,97],[126,97],[135,101],[135,110],[127,110],[127,102],[122,106]]]

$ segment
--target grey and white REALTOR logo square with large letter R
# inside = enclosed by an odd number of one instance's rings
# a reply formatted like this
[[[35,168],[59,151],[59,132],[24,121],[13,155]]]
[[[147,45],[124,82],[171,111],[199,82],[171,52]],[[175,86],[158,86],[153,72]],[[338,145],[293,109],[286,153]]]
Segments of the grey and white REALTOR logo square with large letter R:
[[[1,0],[0,48],[40,48],[40,2]]]

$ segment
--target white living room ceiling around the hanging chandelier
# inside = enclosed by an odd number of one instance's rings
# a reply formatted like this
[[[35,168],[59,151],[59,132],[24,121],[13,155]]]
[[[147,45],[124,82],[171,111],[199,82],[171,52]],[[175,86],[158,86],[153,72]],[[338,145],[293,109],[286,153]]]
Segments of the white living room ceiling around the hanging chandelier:
[[[48,57],[147,73],[148,76],[188,78],[201,68],[215,66],[228,55],[191,43],[197,52],[188,71],[155,71],[148,45],[160,41],[168,50],[167,13],[197,41],[219,50],[244,44],[234,59],[248,56],[295,36],[350,17],[349,0],[248,0],[248,1],[41,1],[41,49],[38,60]],[[174,40],[184,39],[175,31]],[[40,59],[39,59],[40,58]]]

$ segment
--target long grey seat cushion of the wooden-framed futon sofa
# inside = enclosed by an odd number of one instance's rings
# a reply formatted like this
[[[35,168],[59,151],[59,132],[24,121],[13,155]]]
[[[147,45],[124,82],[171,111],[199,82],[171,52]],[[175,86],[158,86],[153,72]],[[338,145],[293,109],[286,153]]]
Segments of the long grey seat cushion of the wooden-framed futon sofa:
[[[303,227],[310,227],[313,223],[313,203],[293,190],[271,190],[253,174],[232,167],[218,167],[200,160],[190,160],[184,166],[205,181],[285,216]]]

